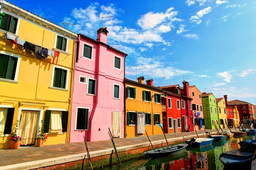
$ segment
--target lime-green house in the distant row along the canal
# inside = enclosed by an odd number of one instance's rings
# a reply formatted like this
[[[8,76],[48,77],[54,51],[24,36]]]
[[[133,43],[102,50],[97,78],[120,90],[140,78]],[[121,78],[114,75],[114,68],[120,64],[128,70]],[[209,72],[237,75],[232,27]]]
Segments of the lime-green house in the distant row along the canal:
[[[212,93],[206,92],[203,92],[201,96],[205,128],[215,129],[215,125],[217,125],[217,120],[219,120],[216,106],[216,98]]]

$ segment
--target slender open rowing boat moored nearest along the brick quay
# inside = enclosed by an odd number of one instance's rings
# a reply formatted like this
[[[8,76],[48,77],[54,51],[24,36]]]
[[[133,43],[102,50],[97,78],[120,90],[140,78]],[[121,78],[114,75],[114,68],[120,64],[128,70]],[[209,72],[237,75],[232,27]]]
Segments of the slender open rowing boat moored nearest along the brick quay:
[[[162,147],[162,148],[156,149],[156,150],[150,150],[143,154],[153,157],[153,158],[172,156],[172,155],[177,155],[177,154],[183,153],[186,150],[187,146],[188,146],[188,144],[178,144],[178,145],[169,146],[169,147]]]

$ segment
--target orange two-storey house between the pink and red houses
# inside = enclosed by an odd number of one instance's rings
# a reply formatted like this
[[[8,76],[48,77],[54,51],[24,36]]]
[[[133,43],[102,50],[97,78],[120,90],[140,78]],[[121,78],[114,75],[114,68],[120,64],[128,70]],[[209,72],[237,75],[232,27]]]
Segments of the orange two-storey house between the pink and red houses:
[[[162,134],[163,124],[161,96],[163,91],[153,86],[153,80],[144,77],[138,82],[125,78],[125,136]]]

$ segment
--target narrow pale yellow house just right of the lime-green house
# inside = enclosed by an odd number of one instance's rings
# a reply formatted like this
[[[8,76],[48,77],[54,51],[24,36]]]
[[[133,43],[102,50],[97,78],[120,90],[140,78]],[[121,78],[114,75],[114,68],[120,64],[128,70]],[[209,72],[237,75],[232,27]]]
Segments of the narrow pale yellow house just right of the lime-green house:
[[[218,123],[220,124],[221,128],[227,128],[227,111],[224,98],[216,98],[216,106]]]

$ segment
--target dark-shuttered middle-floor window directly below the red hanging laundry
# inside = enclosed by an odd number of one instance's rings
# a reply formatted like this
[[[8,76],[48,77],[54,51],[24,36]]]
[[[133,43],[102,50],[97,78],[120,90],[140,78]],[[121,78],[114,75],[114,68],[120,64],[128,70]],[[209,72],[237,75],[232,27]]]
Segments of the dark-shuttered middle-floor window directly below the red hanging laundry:
[[[67,70],[54,67],[53,87],[66,89],[67,87]]]

